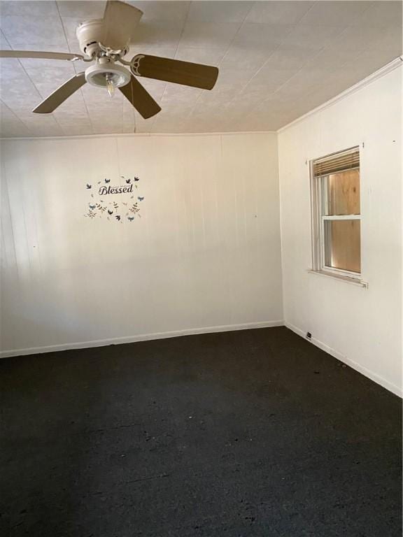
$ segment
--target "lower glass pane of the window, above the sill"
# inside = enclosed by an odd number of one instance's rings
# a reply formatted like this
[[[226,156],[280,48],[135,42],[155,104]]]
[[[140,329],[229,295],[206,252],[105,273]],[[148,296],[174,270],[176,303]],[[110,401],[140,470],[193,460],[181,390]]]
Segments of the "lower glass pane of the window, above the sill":
[[[325,220],[325,265],[361,271],[360,220]]]

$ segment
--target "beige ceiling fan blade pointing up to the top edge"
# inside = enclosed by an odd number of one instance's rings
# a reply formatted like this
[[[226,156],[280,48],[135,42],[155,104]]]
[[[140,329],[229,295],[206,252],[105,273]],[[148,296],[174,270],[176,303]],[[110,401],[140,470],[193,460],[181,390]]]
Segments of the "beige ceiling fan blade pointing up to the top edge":
[[[112,50],[124,49],[133,30],[139,24],[143,12],[129,3],[108,0],[104,12],[104,36],[102,45]]]

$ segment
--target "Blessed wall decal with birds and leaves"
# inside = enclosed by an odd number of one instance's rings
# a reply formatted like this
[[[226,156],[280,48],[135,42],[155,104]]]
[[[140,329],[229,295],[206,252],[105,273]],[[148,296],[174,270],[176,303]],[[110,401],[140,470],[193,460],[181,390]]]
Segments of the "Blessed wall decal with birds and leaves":
[[[135,216],[141,218],[139,203],[144,196],[135,196],[134,189],[138,189],[139,177],[126,178],[120,176],[120,180],[125,182],[120,185],[110,185],[111,179],[104,178],[98,181],[97,186],[92,188],[90,183],[85,184],[86,190],[91,190],[91,199],[88,202],[85,217],[106,218],[111,222],[134,222]]]

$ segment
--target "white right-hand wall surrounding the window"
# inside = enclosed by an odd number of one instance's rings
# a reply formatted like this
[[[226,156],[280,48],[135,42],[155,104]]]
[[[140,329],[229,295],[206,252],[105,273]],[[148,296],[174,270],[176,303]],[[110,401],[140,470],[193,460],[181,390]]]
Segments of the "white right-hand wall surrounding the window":
[[[401,392],[402,69],[278,135],[284,317],[299,334]],[[362,143],[365,147],[362,148]],[[311,274],[306,161],[361,146],[362,279],[368,289]]]

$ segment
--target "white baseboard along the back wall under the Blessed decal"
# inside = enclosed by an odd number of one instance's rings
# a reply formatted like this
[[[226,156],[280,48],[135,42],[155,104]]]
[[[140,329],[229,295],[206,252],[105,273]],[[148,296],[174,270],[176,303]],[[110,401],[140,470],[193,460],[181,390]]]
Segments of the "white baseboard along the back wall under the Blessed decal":
[[[195,334],[211,334],[213,332],[229,332],[234,330],[249,330],[254,328],[283,327],[284,321],[246,322],[243,324],[225,324],[218,327],[190,328],[169,332],[155,332],[153,334],[139,334],[139,336],[123,336],[121,338],[97,339],[94,341],[81,341],[80,343],[62,343],[61,345],[48,345],[45,347],[31,347],[16,350],[0,351],[0,358],[12,356],[36,355],[41,352],[55,352],[58,350],[85,349],[89,347],[104,347],[105,345],[121,345],[122,343],[135,343],[136,341],[149,341],[151,339],[177,338],[178,336],[192,336]]]

